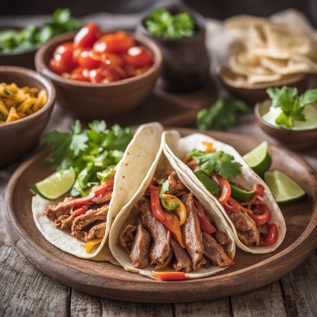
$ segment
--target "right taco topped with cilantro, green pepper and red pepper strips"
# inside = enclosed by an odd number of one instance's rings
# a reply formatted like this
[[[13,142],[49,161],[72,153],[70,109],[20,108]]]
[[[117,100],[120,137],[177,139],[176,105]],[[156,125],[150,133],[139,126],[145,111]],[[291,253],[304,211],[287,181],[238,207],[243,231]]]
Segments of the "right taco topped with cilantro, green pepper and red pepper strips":
[[[239,248],[268,253],[282,243],[286,225],[278,204],[232,146],[200,133],[181,138],[177,131],[166,131],[162,138],[174,168],[209,197]]]

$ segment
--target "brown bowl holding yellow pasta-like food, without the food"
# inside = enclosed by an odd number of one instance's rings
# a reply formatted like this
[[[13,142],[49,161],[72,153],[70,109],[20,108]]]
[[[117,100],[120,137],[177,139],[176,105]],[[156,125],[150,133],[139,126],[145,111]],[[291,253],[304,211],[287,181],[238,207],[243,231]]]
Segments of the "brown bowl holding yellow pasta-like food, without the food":
[[[52,113],[55,89],[52,82],[41,74],[17,66],[0,66],[0,78],[1,82],[15,82],[19,87],[45,89],[48,97],[46,104],[36,113],[0,125],[0,167],[2,167],[13,163],[36,146]]]

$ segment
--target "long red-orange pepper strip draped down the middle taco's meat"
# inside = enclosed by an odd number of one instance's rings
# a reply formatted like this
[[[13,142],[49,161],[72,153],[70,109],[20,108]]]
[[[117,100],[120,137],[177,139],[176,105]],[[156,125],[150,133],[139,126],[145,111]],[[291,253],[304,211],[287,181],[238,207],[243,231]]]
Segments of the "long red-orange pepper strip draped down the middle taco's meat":
[[[175,215],[168,214],[167,212],[163,211],[161,207],[161,202],[159,199],[159,194],[161,192],[160,187],[151,184],[149,189],[151,195],[151,209],[154,217],[163,223],[168,230],[174,233],[180,246],[185,248],[178,218]]]

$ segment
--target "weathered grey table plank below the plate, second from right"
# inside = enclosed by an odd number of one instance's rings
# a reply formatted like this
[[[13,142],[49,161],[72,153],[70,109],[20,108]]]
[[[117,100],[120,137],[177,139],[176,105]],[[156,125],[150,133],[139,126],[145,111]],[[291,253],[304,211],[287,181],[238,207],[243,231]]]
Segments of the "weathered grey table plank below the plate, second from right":
[[[256,278],[256,276],[254,277]],[[233,317],[287,316],[284,298],[278,281],[252,292],[231,297]]]

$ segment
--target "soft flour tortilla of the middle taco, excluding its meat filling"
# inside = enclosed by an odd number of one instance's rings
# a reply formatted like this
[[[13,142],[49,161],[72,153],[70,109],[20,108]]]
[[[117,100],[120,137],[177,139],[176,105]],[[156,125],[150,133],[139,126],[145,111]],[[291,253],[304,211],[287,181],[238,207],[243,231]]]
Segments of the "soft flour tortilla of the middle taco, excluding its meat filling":
[[[131,201],[122,208],[122,210],[114,220],[109,233],[110,250],[115,259],[120,263],[120,265],[123,266],[124,269],[127,271],[139,273],[151,278],[154,278],[152,276],[152,271],[155,270],[155,265],[149,265],[148,267],[143,269],[134,268],[129,258],[129,254],[126,252],[125,249],[122,248],[119,243],[119,237],[128,224],[135,223],[136,217],[140,211],[139,208],[136,207],[136,204],[138,203],[139,199],[143,197],[154,175],[159,175],[167,171],[175,170],[176,164],[172,160],[172,165],[170,164],[170,162],[167,160],[166,156],[162,152],[162,149],[163,146],[158,152],[158,155],[154,160],[151,169],[146,175],[144,182],[141,184],[139,190],[135,193]],[[184,173],[180,173],[179,171],[177,171],[177,173],[180,180],[191,190],[191,192],[203,205],[206,213],[209,214],[210,217],[214,220],[217,230],[222,230],[223,232],[225,232],[228,238],[232,241],[231,254],[232,257],[234,257],[236,253],[236,245],[234,243],[232,233],[228,229],[228,225],[225,223],[223,217],[217,211],[215,211],[215,207],[210,205],[208,199],[204,197],[204,193],[198,187],[195,187],[193,185],[193,182],[189,177],[187,177]],[[218,266],[211,266],[210,268],[206,269],[200,268],[197,272],[191,271],[190,273],[186,273],[185,276],[189,278],[199,278],[216,274],[226,268],[219,268]],[[173,271],[173,269],[169,268],[163,271]]]

